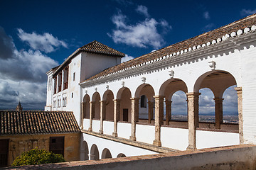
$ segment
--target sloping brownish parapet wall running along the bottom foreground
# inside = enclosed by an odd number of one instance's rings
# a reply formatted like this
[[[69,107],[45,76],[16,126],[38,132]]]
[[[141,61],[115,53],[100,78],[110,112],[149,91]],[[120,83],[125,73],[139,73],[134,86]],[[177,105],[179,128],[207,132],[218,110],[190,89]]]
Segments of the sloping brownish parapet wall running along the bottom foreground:
[[[256,145],[22,166],[21,169],[256,169]]]

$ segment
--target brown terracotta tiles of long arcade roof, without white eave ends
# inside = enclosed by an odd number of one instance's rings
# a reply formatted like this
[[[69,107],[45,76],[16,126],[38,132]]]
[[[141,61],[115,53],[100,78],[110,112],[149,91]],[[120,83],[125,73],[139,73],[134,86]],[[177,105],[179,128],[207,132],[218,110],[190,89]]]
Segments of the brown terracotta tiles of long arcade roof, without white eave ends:
[[[93,77],[90,77],[89,79],[86,79],[85,81],[92,81],[93,79],[96,79],[98,77],[106,76],[107,74],[112,74],[114,72],[117,72],[119,70],[127,69],[132,66],[136,66],[137,64],[142,64],[144,62],[149,62],[151,60],[156,60],[159,57],[164,57],[166,55],[171,55],[174,52],[181,52],[181,50],[188,50],[189,47],[197,47],[198,45],[206,45],[210,42],[210,45],[212,44],[213,40],[217,40],[218,38],[223,38],[223,36],[227,34],[231,34],[233,32],[237,32],[238,30],[244,30],[244,28],[256,26],[256,13],[252,14],[251,16],[247,16],[245,18],[242,18],[238,21],[235,21],[233,23],[230,23],[226,26],[217,28],[215,30],[211,30],[207,33],[203,33],[201,35],[198,35],[194,38],[190,38],[188,40],[183,40],[181,42],[177,42],[174,45],[170,45],[168,47],[164,47],[160,50],[157,50],[155,52],[151,52],[146,55],[142,55],[141,57],[137,57],[134,60],[129,60],[127,62],[118,64],[114,67],[110,67],[109,69],[105,69],[103,72],[100,72],[99,74],[96,74]]]

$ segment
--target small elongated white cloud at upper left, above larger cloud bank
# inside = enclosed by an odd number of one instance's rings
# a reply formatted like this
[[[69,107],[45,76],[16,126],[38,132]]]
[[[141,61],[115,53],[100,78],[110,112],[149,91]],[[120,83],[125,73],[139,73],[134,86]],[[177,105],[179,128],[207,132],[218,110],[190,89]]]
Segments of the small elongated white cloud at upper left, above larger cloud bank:
[[[68,47],[66,42],[58,40],[58,38],[53,37],[50,33],[44,33],[43,35],[35,32],[25,33],[21,28],[18,28],[18,37],[23,42],[27,42],[33,50],[40,50],[46,53],[53,52],[57,47]]]

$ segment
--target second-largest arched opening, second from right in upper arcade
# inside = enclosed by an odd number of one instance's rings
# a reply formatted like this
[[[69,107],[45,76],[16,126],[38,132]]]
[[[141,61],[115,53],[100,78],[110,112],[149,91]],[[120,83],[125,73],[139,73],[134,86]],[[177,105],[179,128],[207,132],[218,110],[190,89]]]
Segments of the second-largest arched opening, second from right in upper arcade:
[[[165,125],[187,127],[187,103],[186,93],[188,88],[181,79],[168,79],[159,90],[159,95],[164,96],[164,120]],[[183,123],[186,121],[186,123]]]

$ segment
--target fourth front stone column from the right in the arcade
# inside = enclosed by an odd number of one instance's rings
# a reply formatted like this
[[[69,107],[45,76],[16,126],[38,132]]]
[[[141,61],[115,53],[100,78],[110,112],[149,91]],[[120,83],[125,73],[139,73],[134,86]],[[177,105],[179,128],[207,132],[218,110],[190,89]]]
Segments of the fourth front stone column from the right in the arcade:
[[[132,101],[132,135],[130,140],[136,140],[136,122],[139,117],[139,98],[131,98]]]

